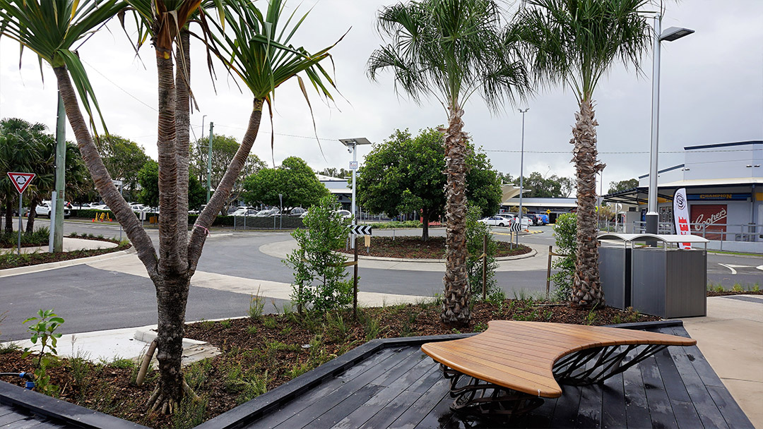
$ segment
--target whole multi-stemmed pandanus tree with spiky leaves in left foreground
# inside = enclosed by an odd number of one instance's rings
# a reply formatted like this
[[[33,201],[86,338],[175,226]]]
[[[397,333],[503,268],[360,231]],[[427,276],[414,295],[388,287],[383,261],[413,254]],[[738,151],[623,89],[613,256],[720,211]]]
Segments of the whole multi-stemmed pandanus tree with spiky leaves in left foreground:
[[[94,124],[92,107],[99,111],[98,103],[85,69],[77,54],[72,51],[72,46],[77,41],[84,40],[92,31],[98,30],[110,18],[124,13],[127,3],[139,17],[140,43],[144,40],[143,34],[150,37],[156,54],[159,208],[162,213],[159,216],[158,255],[137,216],[111,181],[76,96],[76,92],[79,93],[82,107],[89,114],[89,122]],[[257,82],[253,86],[247,84],[257,91],[253,90],[254,108],[243,143],[189,235],[188,120],[184,117],[190,106],[190,33],[187,25],[198,16],[204,33],[200,37],[202,40],[212,40],[208,33],[210,27],[205,21],[200,0],[130,0],[127,3],[116,0],[0,0],[0,30],[3,36],[11,37],[21,43],[22,47],[37,53],[40,62],[45,61],[53,66],[66,117],[74,130],[77,145],[95,187],[124,227],[138,258],[154,283],[159,313],[156,355],[159,360],[159,381],[149,405],[153,410],[171,413],[188,391],[180,363],[190,280],[201,256],[208,228],[227,200],[233,181],[249,155],[259,127],[263,101],[272,101],[275,88],[299,72],[305,72],[316,88],[322,88],[322,94],[328,94],[320,80],[320,75],[326,74],[317,65],[328,53],[324,50],[310,54],[302,48],[282,43],[284,40],[288,42],[302,22],[298,21],[289,28],[289,21],[279,26],[282,2],[270,2],[267,14],[263,15],[248,1],[215,0],[217,12],[226,17],[225,21],[230,23],[232,17],[243,17],[242,25],[246,28],[239,28],[236,36],[218,34],[214,40],[230,41],[230,49],[224,50],[227,53],[224,61],[244,82],[247,79]],[[124,16],[121,15],[120,18],[124,21]],[[224,31],[222,24],[216,24],[215,27]],[[233,31],[237,30],[233,28]],[[173,47],[177,48],[177,70],[173,62]],[[239,56],[249,58],[246,61],[251,62],[251,67],[243,68]]]

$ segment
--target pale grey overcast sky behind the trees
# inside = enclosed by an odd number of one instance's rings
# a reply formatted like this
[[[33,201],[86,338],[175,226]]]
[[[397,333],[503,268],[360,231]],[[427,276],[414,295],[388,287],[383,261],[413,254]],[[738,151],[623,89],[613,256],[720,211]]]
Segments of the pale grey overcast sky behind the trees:
[[[264,5],[264,2],[258,2]],[[291,6],[299,2],[292,1]],[[317,136],[314,137],[307,104],[296,80],[278,88],[275,97],[275,148],[271,153],[271,126],[263,117],[253,152],[276,165],[291,155],[304,158],[314,169],[348,167],[351,155],[338,139],[388,138],[396,128],[417,132],[446,122],[446,111],[436,100],[417,105],[394,93],[389,73],[378,82],[365,74],[369,55],[381,43],[375,19],[388,1],[305,0],[300,10],[313,8],[294,42],[314,52],[349,33],[332,50],[336,105],[322,104],[310,93]],[[651,19],[650,19],[651,21]],[[689,27],[695,34],[662,43],[659,168],[683,162],[684,146],[763,139],[763,2],[760,0],[687,0],[667,5],[662,28]],[[134,56],[117,22],[111,32],[101,31],[79,50],[98,96],[111,133],[138,142],[156,158],[156,62],[151,46]],[[194,40],[195,41],[195,40]],[[252,97],[242,94],[218,64],[217,93],[212,89],[204,55],[198,43],[192,53],[192,89],[200,111],[192,115],[195,136],[204,135],[214,122],[214,133],[243,136]],[[0,41],[0,117],[21,117],[55,129],[56,81],[43,66],[44,82],[34,53],[24,53],[18,67],[18,44]],[[329,69],[331,65],[327,63]],[[635,178],[649,170],[652,103],[652,57],[643,59],[643,73],[615,66],[599,83],[594,100],[598,123],[604,192],[611,181]],[[522,118],[517,107],[530,107],[525,123],[525,175],[572,176],[571,126],[577,107],[567,88],[541,89],[521,106],[506,104],[491,114],[480,98],[465,106],[465,131],[488,153],[493,167],[520,171]],[[192,135],[193,136],[193,135]],[[67,137],[73,139],[70,129]],[[359,149],[359,159],[370,148]],[[324,158],[325,156],[325,158]]]

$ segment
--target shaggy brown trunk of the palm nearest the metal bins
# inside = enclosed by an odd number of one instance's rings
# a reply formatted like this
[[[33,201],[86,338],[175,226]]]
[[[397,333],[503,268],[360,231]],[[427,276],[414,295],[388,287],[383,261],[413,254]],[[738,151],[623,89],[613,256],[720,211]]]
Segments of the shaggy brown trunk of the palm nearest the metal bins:
[[[597,161],[596,126],[593,103],[584,99],[575,113],[571,143],[572,160],[578,180],[578,249],[575,251],[575,278],[572,280],[572,304],[583,308],[604,306],[604,291],[599,282],[599,248],[596,239],[596,174],[604,164]]]

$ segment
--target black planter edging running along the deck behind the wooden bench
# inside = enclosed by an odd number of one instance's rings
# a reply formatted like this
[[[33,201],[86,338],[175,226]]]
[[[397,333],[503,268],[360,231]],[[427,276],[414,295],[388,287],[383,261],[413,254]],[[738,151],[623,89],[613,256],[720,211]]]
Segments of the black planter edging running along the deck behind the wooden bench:
[[[608,328],[624,329],[656,329],[683,325],[681,320],[658,320],[654,322],[622,323],[620,325],[606,326]],[[355,366],[357,363],[371,357],[373,354],[376,354],[385,348],[411,347],[433,341],[456,340],[459,338],[471,337],[478,333],[479,332],[455,335],[384,338],[369,341],[348,351],[340,357],[336,357],[336,359],[331,360],[330,362],[324,363],[314,370],[307,371],[307,373],[304,373],[295,379],[291,379],[269,392],[257,396],[255,399],[244,402],[230,411],[226,411],[215,418],[211,418],[210,420],[199,424],[194,429],[235,429],[237,427],[243,427],[246,424],[250,424],[257,419],[262,418],[262,416],[266,415],[269,411],[275,410],[275,408],[278,408],[285,402],[301,395],[301,393],[307,392],[307,390],[320,385],[324,380],[331,379],[346,370],[349,370],[349,368]]]

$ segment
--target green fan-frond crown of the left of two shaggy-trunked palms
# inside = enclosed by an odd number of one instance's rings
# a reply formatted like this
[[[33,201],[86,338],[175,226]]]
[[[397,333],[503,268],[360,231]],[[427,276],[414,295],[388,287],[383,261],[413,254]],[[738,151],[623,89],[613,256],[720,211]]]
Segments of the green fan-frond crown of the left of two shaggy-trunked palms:
[[[383,8],[378,30],[388,43],[372,53],[369,78],[389,69],[395,89],[414,101],[433,94],[456,106],[480,92],[489,107],[499,109],[502,100],[529,91],[515,41],[503,37],[502,25],[493,0],[424,0]]]

